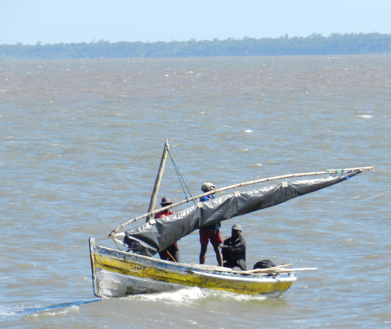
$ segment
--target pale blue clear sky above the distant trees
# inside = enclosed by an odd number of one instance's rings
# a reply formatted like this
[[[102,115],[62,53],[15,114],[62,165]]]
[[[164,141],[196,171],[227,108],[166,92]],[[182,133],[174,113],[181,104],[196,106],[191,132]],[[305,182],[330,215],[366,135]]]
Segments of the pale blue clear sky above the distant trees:
[[[391,33],[390,0],[1,0],[0,44]]]

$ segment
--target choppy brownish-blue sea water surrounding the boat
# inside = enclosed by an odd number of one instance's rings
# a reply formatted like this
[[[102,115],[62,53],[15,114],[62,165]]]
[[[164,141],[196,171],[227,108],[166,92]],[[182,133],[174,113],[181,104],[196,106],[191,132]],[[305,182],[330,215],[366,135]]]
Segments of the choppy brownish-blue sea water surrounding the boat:
[[[390,67],[390,55],[0,61],[0,327],[389,328]],[[317,268],[282,297],[101,300],[88,237],[116,248],[109,232],[147,212],[166,139],[158,200],[204,182],[375,171],[222,222],[223,237],[243,226],[249,268]],[[198,262],[198,232],[178,245]]]

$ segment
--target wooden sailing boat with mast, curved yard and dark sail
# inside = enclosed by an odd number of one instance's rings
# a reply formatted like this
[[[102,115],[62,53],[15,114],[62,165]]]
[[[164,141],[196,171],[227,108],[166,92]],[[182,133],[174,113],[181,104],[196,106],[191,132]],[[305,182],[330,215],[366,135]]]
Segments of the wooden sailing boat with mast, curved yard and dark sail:
[[[287,264],[267,269],[232,271],[219,266],[163,261],[152,258],[152,256],[201,227],[272,207],[297,196],[342,182],[364,170],[373,170],[373,167],[358,167],[274,176],[222,187],[167,207],[152,210],[156,202],[168,148],[166,140],[148,212],[123,223],[109,234],[109,237],[117,244],[118,250],[96,245],[95,239],[90,237],[93,289],[98,297],[156,293],[186,286],[278,297],[296,280],[295,272],[315,268],[288,269],[286,267],[291,264]],[[327,176],[293,182],[286,181],[287,178],[314,175]],[[283,180],[283,182],[258,189],[236,191],[237,187],[273,180]],[[162,210],[229,189],[235,189],[235,191],[209,201],[198,202],[173,215],[152,219],[154,214]],[[123,231],[125,226],[143,218],[146,219],[144,224],[126,232]],[[126,251],[119,250],[120,245]]]

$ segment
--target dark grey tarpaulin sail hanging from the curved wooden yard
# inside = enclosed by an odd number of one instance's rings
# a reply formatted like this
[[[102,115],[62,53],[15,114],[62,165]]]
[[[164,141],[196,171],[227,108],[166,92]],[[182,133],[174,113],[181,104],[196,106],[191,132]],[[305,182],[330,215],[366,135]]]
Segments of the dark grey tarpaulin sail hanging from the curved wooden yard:
[[[124,244],[135,253],[151,257],[194,230],[278,205],[297,196],[342,182],[358,173],[361,171],[294,182],[284,181],[260,189],[237,191],[216,199],[199,202],[176,214],[153,219],[127,230]]]

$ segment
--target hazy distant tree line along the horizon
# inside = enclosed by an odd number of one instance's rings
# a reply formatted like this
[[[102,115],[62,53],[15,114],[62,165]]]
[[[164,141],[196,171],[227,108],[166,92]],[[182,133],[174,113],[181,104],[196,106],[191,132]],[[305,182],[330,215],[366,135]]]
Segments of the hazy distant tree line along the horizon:
[[[307,38],[292,37],[243,39],[218,38],[204,41],[116,42],[99,40],[91,43],[54,45],[0,45],[0,59],[61,58],[149,58],[208,56],[287,56],[390,54],[391,34],[334,33],[328,37],[313,33]]]

